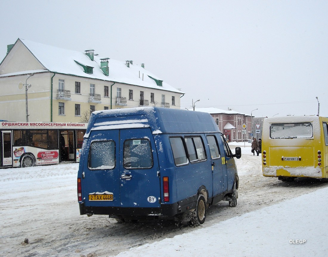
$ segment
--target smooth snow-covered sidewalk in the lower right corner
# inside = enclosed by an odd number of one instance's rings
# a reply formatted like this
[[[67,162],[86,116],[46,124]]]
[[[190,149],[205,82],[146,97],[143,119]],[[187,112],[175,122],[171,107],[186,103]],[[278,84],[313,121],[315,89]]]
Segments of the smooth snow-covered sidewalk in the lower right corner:
[[[328,188],[117,256],[324,256]]]

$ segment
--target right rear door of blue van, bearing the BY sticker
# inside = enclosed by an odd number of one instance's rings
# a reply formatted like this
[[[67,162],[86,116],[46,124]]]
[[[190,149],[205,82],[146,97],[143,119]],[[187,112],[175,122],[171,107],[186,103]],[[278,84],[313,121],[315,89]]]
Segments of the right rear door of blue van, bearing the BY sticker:
[[[160,178],[150,128],[120,130],[121,207],[159,207]]]

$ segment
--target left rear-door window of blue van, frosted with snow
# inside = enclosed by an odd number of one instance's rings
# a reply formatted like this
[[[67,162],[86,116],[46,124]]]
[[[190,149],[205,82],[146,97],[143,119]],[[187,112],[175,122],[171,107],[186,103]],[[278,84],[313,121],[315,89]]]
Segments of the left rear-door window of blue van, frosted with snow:
[[[115,142],[113,140],[91,142],[88,167],[91,170],[114,169]]]

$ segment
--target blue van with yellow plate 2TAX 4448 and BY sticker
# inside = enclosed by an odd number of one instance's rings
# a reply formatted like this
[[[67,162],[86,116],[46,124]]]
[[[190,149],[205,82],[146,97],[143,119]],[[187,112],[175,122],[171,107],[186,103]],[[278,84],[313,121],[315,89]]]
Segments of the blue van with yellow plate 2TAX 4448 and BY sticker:
[[[234,157],[208,113],[160,107],[93,112],[81,150],[80,214],[119,222],[203,224],[209,206],[236,206]]]

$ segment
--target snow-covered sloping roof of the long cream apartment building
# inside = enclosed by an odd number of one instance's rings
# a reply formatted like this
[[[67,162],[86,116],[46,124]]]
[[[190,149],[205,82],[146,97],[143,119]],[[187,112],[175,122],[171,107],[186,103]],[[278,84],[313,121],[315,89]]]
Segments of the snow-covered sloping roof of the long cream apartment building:
[[[31,51],[35,58],[51,72],[91,79],[99,79],[104,81],[126,83],[184,94],[183,92],[165,83],[163,79],[158,78],[158,76],[154,75],[138,64],[130,63],[130,67],[127,67],[125,62],[108,59],[109,76],[106,76],[100,69],[100,59],[104,59],[104,57],[94,55],[94,61],[92,61],[83,52],[44,45],[25,39],[18,40],[20,40]],[[82,66],[76,62],[85,66],[93,67],[93,74],[85,73]],[[156,82],[149,76],[163,81],[162,86],[158,86]]]

